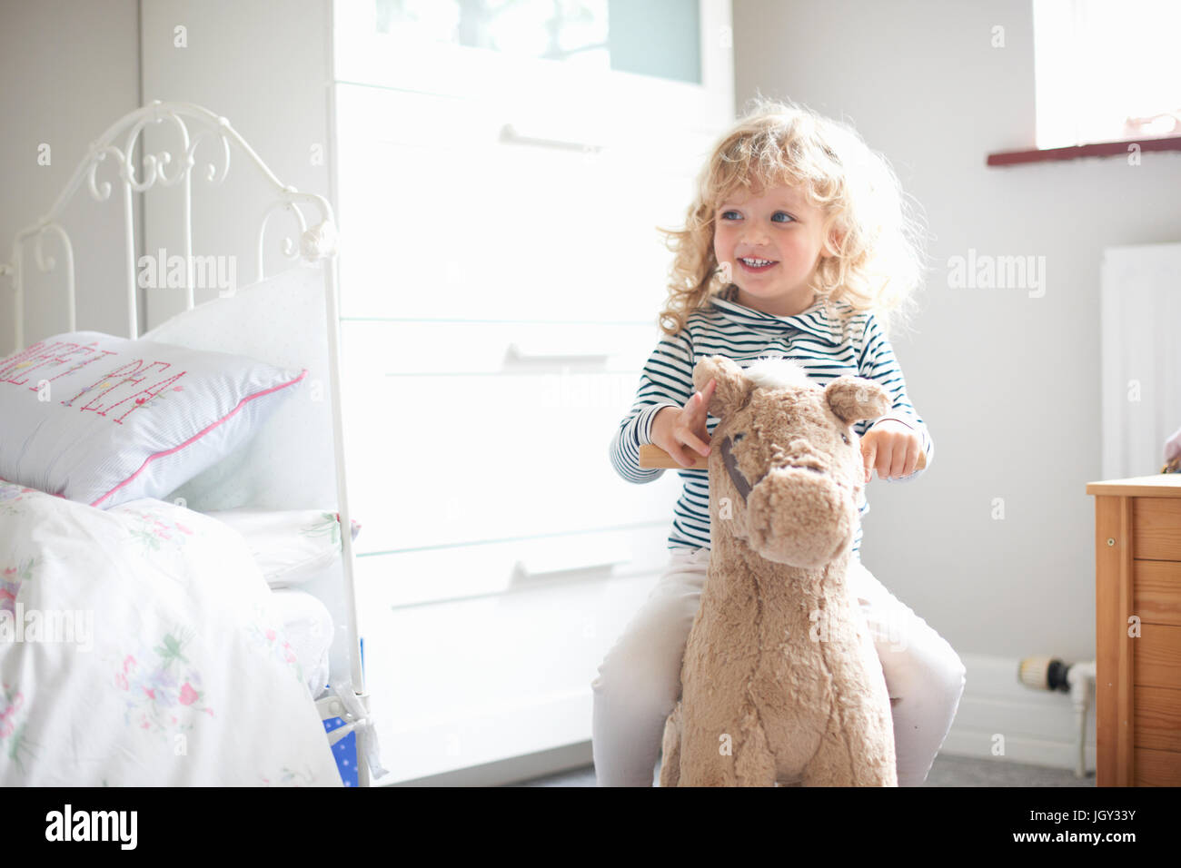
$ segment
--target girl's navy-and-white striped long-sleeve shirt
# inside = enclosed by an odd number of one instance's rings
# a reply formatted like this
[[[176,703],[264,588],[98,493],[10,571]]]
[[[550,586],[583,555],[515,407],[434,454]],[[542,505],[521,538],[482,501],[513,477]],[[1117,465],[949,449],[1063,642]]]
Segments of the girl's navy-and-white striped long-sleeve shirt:
[[[896,419],[922,437],[927,466],[934,457],[934,443],[922,418],[906,394],[906,381],[894,350],[872,313],[854,313],[847,302],[817,300],[795,316],[775,316],[735,301],[735,289],[715,295],[710,306],[694,311],[674,337],[665,335],[640,374],[635,403],[619,425],[611,443],[611,463],[626,481],[652,482],[664,470],[639,465],[639,446],[651,443],[652,420],[661,409],[681,407],[693,396],[693,366],[703,357],[725,355],[748,367],[761,355],[785,355],[798,361],[818,385],[842,374],[876,380],[890,396],[892,406],[876,419],[854,424],[857,436],[882,419]],[[712,436],[719,419],[706,419]],[[710,547],[710,483],[704,470],[678,470],[684,488],[673,510],[668,548]],[[909,482],[916,470],[889,482]],[[869,511],[862,489],[857,504],[861,517]],[[853,541],[853,556],[861,556],[861,528]]]

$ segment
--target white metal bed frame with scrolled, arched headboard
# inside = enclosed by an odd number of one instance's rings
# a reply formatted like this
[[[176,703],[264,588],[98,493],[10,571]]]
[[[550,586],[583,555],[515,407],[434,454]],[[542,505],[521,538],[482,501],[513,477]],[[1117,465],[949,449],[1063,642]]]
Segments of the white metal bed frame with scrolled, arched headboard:
[[[155,154],[143,156],[143,177],[136,176],[136,168],[132,163],[139,136],[150,124],[162,124],[170,122],[180,135],[181,145],[175,152],[159,150]],[[190,135],[189,125],[196,130]],[[119,148],[117,141],[123,142]],[[361,671],[360,639],[357,621],[357,594],[353,585],[353,540],[348,528],[352,527],[352,518],[348,510],[348,490],[345,477],[344,455],[344,428],[341,423],[340,409],[340,326],[339,326],[339,299],[337,294],[337,249],[335,249],[335,223],[331,203],[322,196],[309,192],[299,192],[294,187],[283,184],[275,177],[274,172],[267,168],[266,163],[242,138],[241,135],[230,126],[229,120],[216,113],[191,103],[165,103],[154,100],[149,105],[137,109],[111,124],[110,128],[93,143],[91,143],[86,156],[78,164],[73,176],[65,189],[53,202],[50,210],[35,223],[17,233],[12,246],[12,260],[7,263],[0,262],[0,276],[9,278],[15,291],[13,298],[13,321],[14,321],[14,350],[25,348],[25,281],[24,281],[24,257],[25,244],[32,240],[33,261],[43,273],[54,270],[57,262],[52,256],[45,254],[45,237],[56,235],[61,244],[65,257],[65,275],[67,287],[67,316],[70,331],[77,331],[77,302],[74,291],[74,260],[73,247],[70,235],[59,222],[63,209],[70,202],[78,188],[85,181],[90,195],[98,202],[104,202],[111,196],[111,182],[96,182],[96,172],[99,164],[109,157],[118,167],[119,181],[123,187],[123,214],[124,214],[124,241],[126,256],[126,304],[128,304],[128,334],[133,340],[139,337],[138,329],[138,302],[137,302],[137,275],[136,275],[136,235],[135,235],[135,200],[132,194],[145,192],[157,183],[161,187],[181,185],[183,190],[183,243],[185,268],[185,311],[194,307],[194,259],[193,259],[193,170],[196,165],[196,150],[202,141],[211,139],[221,145],[222,167],[215,163],[207,163],[204,167],[204,180],[210,184],[221,184],[229,172],[230,143],[233,142],[249,158],[259,171],[263,175],[270,188],[276,194],[276,198],[263,210],[257,234],[257,280],[263,279],[263,240],[267,231],[267,223],[270,216],[278,210],[286,210],[295,216],[299,223],[300,239],[295,243],[291,237],[285,237],[282,252],[287,259],[302,256],[308,262],[320,262],[324,265],[325,279],[325,302],[328,329],[328,368],[332,392],[332,435],[334,445],[334,459],[337,471],[337,509],[340,514],[341,527],[341,559],[344,566],[344,602],[348,618],[348,654],[350,677],[347,685],[334,685],[335,696],[327,696],[317,701],[317,707],[322,719],[339,717],[345,725],[339,726],[327,733],[328,743],[335,744],[351,732],[357,735],[357,771],[358,784],[367,787],[370,783],[370,766],[372,765],[380,774],[380,761],[377,757],[377,737],[373,731],[373,722],[370,717],[368,694],[365,692],[364,673]],[[319,222],[308,224],[308,218],[304,214],[304,208],[318,211]]]

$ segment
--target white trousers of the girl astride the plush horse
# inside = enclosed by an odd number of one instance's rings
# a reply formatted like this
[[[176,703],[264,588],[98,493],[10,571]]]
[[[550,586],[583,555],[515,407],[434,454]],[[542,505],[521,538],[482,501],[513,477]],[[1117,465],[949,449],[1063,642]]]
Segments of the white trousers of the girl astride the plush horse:
[[[665,718],[680,697],[680,666],[700,603],[710,550],[673,549],[660,581],[599,666],[592,746],[599,787],[651,787]],[[927,778],[947,737],[965,668],[947,640],[899,602],[859,559],[849,590],[882,663],[894,719],[899,787]]]

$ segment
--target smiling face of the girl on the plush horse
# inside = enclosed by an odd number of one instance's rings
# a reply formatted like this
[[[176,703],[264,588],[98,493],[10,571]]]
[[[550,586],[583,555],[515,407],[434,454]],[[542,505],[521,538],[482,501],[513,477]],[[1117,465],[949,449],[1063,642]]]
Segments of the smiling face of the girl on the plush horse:
[[[715,213],[713,253],[738,286],[738,304],[794,316],[814,301],[824,215],[791,187],[738,190]]]

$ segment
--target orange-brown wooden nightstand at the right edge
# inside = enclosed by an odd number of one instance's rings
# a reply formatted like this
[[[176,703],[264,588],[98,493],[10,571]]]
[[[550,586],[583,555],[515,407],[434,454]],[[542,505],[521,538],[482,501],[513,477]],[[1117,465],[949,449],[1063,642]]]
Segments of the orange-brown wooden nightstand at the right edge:
[[[1096,785],[1181,785],[1181,474],[1091,482]],[[1138,632],[1138,637],[1135,633]]]

